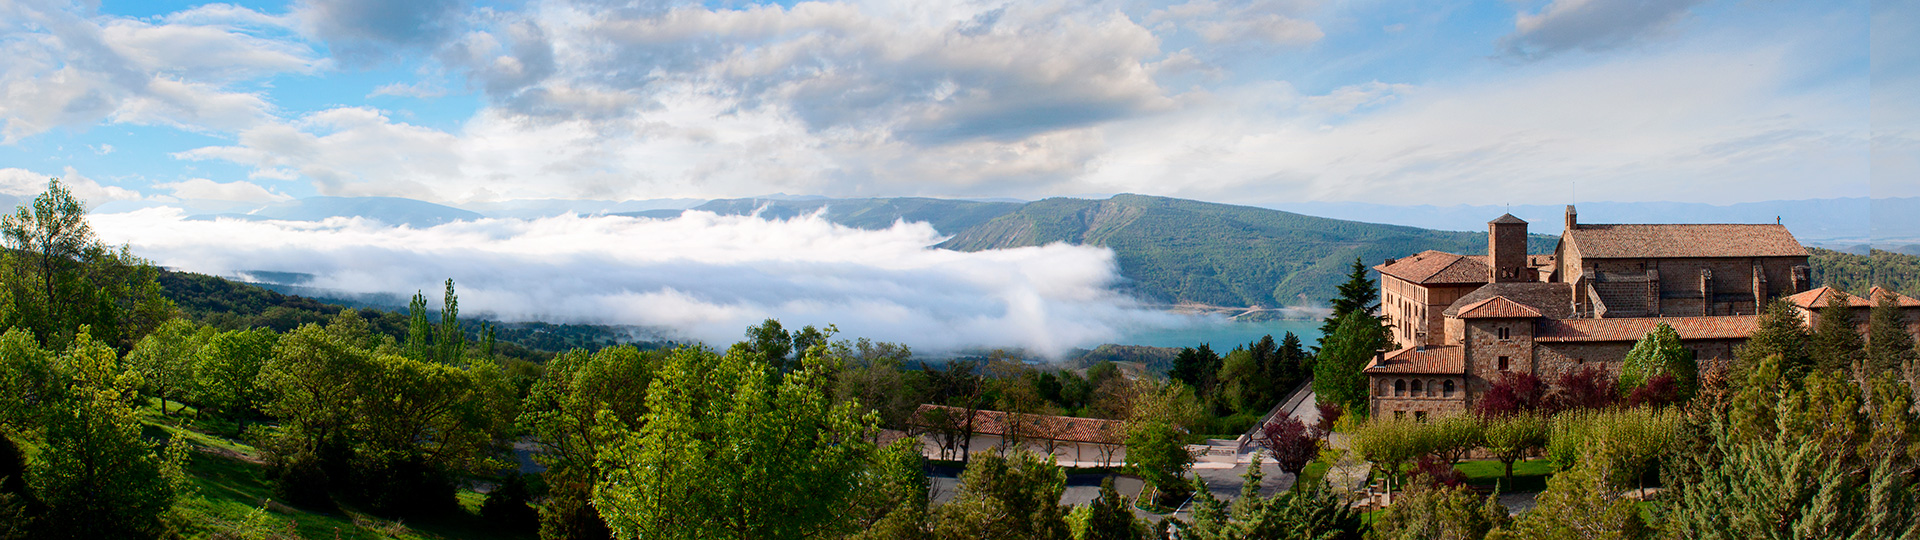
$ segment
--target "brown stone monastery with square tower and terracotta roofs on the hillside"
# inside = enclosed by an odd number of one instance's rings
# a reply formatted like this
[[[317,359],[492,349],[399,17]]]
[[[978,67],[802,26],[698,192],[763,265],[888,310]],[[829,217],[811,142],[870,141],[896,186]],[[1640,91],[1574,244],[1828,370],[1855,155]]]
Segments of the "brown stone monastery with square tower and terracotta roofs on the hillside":
[[[1488,223],[1484,258],[1421,252],[1375,269],[1404,346],[1365,369],[1375,417],[1465,411],[1503,371],[1553,380],[1597,363],[1619,375],[1659,323],[1713,365],[1732,359],[1766,302],[1824,306],[1782,225],[1584,225],[1572,206],[1551,256],[1528,256],[1526,221],[1509,213]],[[1920,302],[1899,298],[1920,319]]]

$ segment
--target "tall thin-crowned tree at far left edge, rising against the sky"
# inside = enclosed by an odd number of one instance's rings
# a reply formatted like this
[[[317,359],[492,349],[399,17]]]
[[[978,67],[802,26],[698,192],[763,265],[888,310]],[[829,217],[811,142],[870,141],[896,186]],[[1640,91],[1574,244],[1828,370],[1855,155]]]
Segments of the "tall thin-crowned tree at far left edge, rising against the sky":
[[[113,348],[131,348],[173,304],[159,294],[157,271],[127,248],[111,250],[86,223],[86,206],[58,179],[46,192],[0,217],[8,254],[0,259],[0,327],[31,329],[63,348],[81,327]]]

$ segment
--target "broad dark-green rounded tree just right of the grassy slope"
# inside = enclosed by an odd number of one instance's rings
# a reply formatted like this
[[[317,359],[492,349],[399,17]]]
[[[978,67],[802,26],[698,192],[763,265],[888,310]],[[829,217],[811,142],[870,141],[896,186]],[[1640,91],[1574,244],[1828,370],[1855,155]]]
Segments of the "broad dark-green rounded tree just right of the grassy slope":
[[[265,440],[282,494],[338,492],[390,515],[449,507],[451,475],[499,467],[495,434],[513,417],[497,367],[392,354],[353,311],[282,336],[259,384],[282,421]]]

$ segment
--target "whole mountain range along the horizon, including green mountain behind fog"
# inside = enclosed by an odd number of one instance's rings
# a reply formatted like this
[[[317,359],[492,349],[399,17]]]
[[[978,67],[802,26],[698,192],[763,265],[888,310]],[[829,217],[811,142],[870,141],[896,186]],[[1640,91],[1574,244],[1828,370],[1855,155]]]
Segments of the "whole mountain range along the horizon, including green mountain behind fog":
[[[150,206],[150,204],[146,204]],[[96,211],[123,211],[109,204]],[[1359,258],[1367,265],[1421,250],[1478,254],[1486,221],[1511,211],[1532,223],[1530,250],[1549,252],[1565,206],[1375,206],[1284,204],[1231,206],[1160,196],[1117,194],[1106,200],[1048,198],[820,198],[764,196],[737,200],[513,200],[453,208],[405,198],[301,198],[246,211],[196,213],[192,219],[365,217],[390,225],[434,227],[482,217],[636,215],[676,217],[685,209],[722,215],[758,213],[789,219],[822,211],[858,229],[924,221],[950,238],[939,248],[977,252],[1052,242],[1112,248],[1121,288],[1148,302],[1236,307],[1321,304]],[[1768,223],[1778,217],[1801,242],[1862,252],[1868,234],[1920,244],[1920,198],[1836,198],[1797,202],[1580,204],[1582,223]],[[1876,215],[1878,219],[1872,219]],[[1870,231],[1870,233],[1868,233]],[[1891,246],[1920,252],[1914,246]],[[311,290],[303,290],[313,294]]]

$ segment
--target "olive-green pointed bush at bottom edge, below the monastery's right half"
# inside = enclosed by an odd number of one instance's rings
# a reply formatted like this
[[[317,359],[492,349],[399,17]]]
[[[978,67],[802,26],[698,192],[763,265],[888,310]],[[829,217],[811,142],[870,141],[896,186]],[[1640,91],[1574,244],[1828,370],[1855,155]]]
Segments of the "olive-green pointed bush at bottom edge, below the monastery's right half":
[[[1488,540],[1636,540],[1649,528],[1634,500],[1607,482],[1601,463],[1582,463],[1548,480],[1534,509],[1496,528]]]

